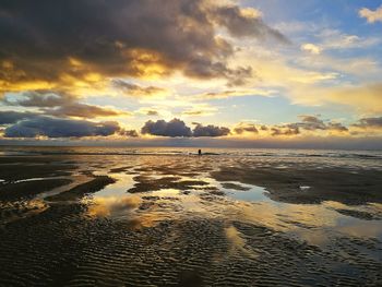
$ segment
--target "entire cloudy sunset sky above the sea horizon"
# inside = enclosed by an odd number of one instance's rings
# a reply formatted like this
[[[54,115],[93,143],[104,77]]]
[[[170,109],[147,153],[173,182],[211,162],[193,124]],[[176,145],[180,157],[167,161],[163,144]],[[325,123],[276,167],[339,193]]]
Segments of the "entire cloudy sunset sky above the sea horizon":
[[[382,1],[0,3],[0,143],[382,148]]]

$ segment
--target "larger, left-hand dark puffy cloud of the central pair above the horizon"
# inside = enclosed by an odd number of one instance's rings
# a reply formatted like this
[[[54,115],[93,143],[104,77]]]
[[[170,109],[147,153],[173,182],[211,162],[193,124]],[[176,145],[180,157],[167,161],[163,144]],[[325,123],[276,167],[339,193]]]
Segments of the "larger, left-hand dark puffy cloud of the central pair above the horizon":
[[[165,120],[157,121],[146,121],[141,129],[142,134],[153,134],[162,136],[192,136],[191,129],[186,125],[186,123],[179,119],[172,119],[169,122]]]

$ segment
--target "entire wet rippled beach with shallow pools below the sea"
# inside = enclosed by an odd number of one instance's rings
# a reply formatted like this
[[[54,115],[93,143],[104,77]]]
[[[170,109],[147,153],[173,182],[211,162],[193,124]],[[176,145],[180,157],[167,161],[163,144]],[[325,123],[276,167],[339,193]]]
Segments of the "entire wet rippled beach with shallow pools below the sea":
[[[224,156],[0,157],[2,286],[381,286],[382,171]]]

